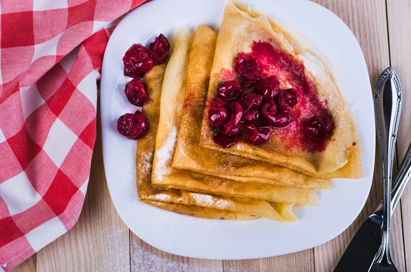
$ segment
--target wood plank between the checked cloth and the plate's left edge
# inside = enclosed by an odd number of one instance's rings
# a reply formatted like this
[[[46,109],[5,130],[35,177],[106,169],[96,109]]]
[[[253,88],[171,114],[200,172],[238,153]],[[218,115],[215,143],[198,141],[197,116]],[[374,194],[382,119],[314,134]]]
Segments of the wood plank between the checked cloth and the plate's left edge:
[[[38,272],[130,269],[129,230],[117,214],[108,192],[99,118],[97,124],[97,142],[82,214],[73,229],[38,251]]]

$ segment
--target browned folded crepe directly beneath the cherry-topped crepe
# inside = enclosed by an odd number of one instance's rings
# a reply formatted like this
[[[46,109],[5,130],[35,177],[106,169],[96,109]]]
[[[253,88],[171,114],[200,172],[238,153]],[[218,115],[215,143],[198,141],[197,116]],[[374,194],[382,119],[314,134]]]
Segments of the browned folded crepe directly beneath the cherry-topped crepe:
[[[205,26],[199,26],[197,37]],[[210,32],[210,30],[208,31]],[[204,32],[207,33],[207,32]],[[332,181],[303,175],[283,166],[269,162],[251,160],[229,153],[201,147],[199,145],[203,111],[206,104],[212,51],[204,55],[203,50],[190,53],[190,66],[186,81],[186,92],[182,108],[173,168],[216,175],[240,182],[260,182],[299,188],[331,189]]]

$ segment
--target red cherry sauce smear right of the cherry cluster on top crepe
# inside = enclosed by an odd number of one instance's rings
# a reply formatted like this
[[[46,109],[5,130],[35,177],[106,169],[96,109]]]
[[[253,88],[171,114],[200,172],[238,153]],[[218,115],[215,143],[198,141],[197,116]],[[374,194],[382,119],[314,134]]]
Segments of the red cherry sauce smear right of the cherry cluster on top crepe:
[[[334,124],[331,114],[316,95],[316,87],[304,74],[303,64],[269,42],[253,42],[251,55],[260,64],[264,77],[275,75],[279,82],[284,82],[287,86],[280,95],[283,99],[277,97],[276,103],[279,112],[287,116],[288,122],[292,123],[282,129],[273,129],[273,136],[281,138],[288,148],[323,151],[333,129],[323,137],[321,129],[313,129],[306,124],[310,123],[314,116],[325,117],[331,127],[334,127]],[[308,127],[311,127],[312,134],[307,133],[307,130],[310,130]]]

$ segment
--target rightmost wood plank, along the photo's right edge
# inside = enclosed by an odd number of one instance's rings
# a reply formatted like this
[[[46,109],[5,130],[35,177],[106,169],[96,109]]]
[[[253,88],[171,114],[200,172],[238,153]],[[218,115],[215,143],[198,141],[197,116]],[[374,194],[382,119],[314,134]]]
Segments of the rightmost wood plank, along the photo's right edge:
[[[388,0],[388,36],[391,66],[398,73],[403,87],[403,109],[397,139],[397,158],[403,159],[411,139],[411,3],[408,0]],[[406,269],[411,271],[411,187],[408,186],[401,200],[403,238]]]

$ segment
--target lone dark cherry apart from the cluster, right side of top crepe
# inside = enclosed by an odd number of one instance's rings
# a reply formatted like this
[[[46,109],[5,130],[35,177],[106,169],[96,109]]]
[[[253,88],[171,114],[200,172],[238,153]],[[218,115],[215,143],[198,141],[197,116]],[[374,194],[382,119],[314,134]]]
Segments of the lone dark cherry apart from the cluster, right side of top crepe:
[[[329,138],[329,132],[333,129],[333,123],[327,116],[313,116],[306,123],[304,132],[308,139],[315,143],[321,143]]]

